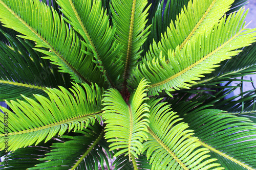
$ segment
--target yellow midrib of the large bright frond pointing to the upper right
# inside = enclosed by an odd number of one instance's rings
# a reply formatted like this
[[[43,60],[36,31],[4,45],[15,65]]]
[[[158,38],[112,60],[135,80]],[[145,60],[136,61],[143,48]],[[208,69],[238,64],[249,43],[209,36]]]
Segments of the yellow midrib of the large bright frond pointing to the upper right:
[[[224,47],[225,45],[227,45],[229,42],[231,42],[234,38],[236,38],[241,32],[243,31],[243,29],[241,29],[237,34],[235,34],[234,36],[232,36],[229,40],[227,40],[225,43],[223,43],[221,46],[219,46],[218,48],[216,48],[216,50],[212,51],[211,53],[209,53],[208,55],[204,56],[203,58],[201,58],[200,60],[198,60],[197,62],[195,62],[194,64],[188,66],[187,68],[183,69],[182,71],[178,72],[177,74],[173,75],[172,77],[169,77],[166,80],[163,80],[161,82],[155,83],[155,84],[151,84],[148,89],[157,87],[157,86],[161,86],[177,77],[179,77],[180,75],[184,74],[186,71],[188,71],[189,69],[195,67],[196,65],[200,64],[201,62],[203,62],[204,60],[206,60],[208,57],[210,57],[211,55],[215,54],[216,52],[218,52],[219,50],[221,50],[222,47]]]

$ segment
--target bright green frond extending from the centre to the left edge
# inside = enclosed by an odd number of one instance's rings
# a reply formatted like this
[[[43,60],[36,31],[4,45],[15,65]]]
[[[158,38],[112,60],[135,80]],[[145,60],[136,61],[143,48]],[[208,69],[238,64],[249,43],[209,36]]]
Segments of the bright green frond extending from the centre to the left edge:
[[[50,100],[41,95],[34,95],[39,103],[25,96],[23,97],[26,102],[7,102],[15,114],[1,107],[4,112],[1,114],[1,141],[7,135],[9,150],[13,151],[28,145],[36,145],[42,140],[48,141],[57,133],[60,136],[66,130],[81,130],[89,123],[94,124],[102,109],[102,91],[97,85],[83,84],[83,87],[85,91],[81,86],[74,85],[73,89],[70,89],[74,96],[61,86],[61,91],[48,89],[46,92]],[[1,150],[4,147],[2,142]]]

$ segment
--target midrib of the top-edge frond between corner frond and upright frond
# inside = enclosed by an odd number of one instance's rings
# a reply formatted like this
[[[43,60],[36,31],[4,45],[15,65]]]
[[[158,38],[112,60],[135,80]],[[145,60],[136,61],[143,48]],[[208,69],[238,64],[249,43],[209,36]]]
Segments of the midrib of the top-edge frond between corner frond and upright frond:
[[[77,18],[77,20],[78,20],[80,26],[82,27],[83,32],[86,34],[86,37],[88,38],[90,44],[92,45],[94,51],[96,52],[97,57],[99,58],[99,60],[101,60],[101,59],[100,59],[101,56],[99,55],[98,50],[97,50],[97,48],[96,48],[96,46],[95,46],[95,44],[94,44],[92,38],[91,38],[90,35],[88,34],[88,31],[86,30],[86,27],[84,27],[83,22],[82,22],[81,18],[79,17],[79,14],[78,14],[78,12],[77,12],[77,10],[76,10],[74,4],[72,3],[72,0],[69,0],[69,3],[70,3],[70,5],[71,5],[71,7],[72,7],[72,9],[73,9],[73,12],[74,12],[75,15],[76,15],[76,18]],[[103,63],[101,63],[101,64],[99,63],[99,65],[104,68]],[[109,77],[108,71],[107,71],[106,69],[105,69],[104,73],[105,73],[105,76],[106,76],[106,78],[108,79],[110,85],[111,85],[113,88],[116,88],[116,87],[115,87],[115,84],[113,83],[113,81],[112,81],[111,78]]]

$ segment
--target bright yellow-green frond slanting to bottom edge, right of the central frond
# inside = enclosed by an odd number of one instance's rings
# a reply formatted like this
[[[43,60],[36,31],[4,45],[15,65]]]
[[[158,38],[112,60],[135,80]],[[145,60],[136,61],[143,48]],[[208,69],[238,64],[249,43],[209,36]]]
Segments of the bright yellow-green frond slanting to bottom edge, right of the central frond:
[[[152,163],[152,169],[223,169],[218,163],[213,163],[216,159],[205,160],[209,151],[205,148],[198,149],[196,137],[191,137],[194,133],[188,130],[188,125],[179,121],[169,105],[159,103],[161,99],[151,100],[150,127],[151,136],[143,144],[143,150],[147,150],[147,157]]]

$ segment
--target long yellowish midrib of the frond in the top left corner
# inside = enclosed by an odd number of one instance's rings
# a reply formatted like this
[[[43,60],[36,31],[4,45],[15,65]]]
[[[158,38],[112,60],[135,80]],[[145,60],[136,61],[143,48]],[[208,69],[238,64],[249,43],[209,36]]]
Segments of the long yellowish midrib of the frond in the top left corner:
[[[75,74],[85,83],[91,84],[88,80],[86,80],[86,78],[84,78],[73,66],[71,66],[65,59],[62,58],[62,56],[54,50],[53,46],[48,43],[43,37],[41,37],[41,35],[39,35],[33,28],[31,28],[27,22],[25,22],[22,18],[20,18],[15,12],[13,12],[3,1],[0,1],[0,3],[9,11],[12,13],[12,15],[14,15],[20,22],[22,22],[31,32],[33,32],[38,38],[40,38],[44,43],[46,43],[48,45],[48,47],[50,47],[50,50],[52,52],[54,52],[55,55],[57,55],[68,67],[71,68],[72,71],[75,72]]]

